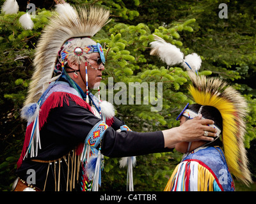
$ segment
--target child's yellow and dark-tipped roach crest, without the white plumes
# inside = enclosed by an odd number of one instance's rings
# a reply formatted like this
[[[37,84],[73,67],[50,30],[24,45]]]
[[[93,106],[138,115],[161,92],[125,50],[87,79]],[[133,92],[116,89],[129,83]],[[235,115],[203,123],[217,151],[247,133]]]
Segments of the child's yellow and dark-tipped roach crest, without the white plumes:
[[[193,71],[188,71],[188,74],[192,81],[188,90],[195,102],[214,106],[220,111],[223,119],[222,142],[228,168],[237,179],[248,185],[252,178],[244,148],[244,119],[248,112],[246,100],[220,78],[197,76]]]

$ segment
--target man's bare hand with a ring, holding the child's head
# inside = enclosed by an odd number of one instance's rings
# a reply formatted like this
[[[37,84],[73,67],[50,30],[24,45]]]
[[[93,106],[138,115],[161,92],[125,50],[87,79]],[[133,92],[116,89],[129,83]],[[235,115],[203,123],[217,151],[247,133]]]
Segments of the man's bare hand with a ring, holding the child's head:
[[[178,142],[192,142],[197,140],[212,141],[216,136],[216,129],[207,126],[207,124],[214,124],[213,120],[202,119],[202,115],[194,119],[187,120],[177,128],[167,129],[163,131],[164,147],[173,147]],[[208,132],[204,136],[205,131]]]

